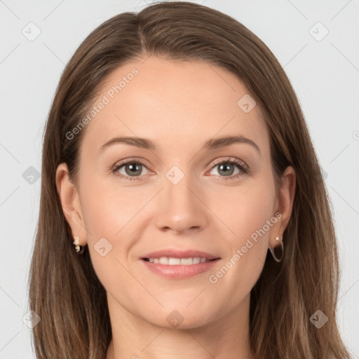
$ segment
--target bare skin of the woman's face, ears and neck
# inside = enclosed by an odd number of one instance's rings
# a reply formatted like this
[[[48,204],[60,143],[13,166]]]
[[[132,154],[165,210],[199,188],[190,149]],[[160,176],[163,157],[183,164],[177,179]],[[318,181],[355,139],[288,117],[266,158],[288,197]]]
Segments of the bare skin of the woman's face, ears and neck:
[[[205,62],[151,56],[116,69],[98,100],[133,67],[139,74],[86,126],[78,177],[69,181],[65,163],[56,173],[72,234],[88,245],[107,290],[113,332],[107,359],[252,358],[250,290],[268,248],[278,245],[275,238],[290,219],[295,172],[288,167],[276,191],[262,112],[258,105],[249,113],[238,107],[248,90],[231,72]],[[205,141],[224,135],[248,137],[260,154],[248,143],[202,149]],[[102,144],[116,136],[145,137],[158,149],[118,143],[99,154]],[[111,172],[133,157],[144,162],[140,177],[126,180]],[[228,158],[245,162],[250,172],[230,165],[233,173],[226,175],[216,163]],[[173,165],[184,174],[178,184],[165,177]],[[131,176],[126,165],[117,172]],[[210,283],[210,274],[277,211],[281,219],[217,283]],[[112,245],[104,257],[94,248],[103,237]],[[162,278],[140,258],[163,248],[202,250],[221,259],[191,278]],[[174,310],[183,317],[179,327],[166,320]]]

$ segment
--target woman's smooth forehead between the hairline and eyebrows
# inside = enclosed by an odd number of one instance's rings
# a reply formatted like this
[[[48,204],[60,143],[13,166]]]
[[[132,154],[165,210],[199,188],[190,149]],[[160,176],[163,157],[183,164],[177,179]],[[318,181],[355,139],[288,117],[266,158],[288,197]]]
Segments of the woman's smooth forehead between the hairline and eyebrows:
[[[244,135],[269,147],[259,106],[243,111],[243,102],[252,107],[250,98],[234,74],[207,62],[152,56],[128,62],[102,84],[83,147],[95,154],[120,135],[150,138],[163,151],[196,149],[223,135]]]

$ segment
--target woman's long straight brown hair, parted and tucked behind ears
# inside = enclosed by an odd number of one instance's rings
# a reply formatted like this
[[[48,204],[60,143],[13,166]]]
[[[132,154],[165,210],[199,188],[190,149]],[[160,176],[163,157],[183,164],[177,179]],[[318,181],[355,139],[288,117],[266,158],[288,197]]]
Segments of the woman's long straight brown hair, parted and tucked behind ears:
[[[329,199],[297,96],[271,50],[233,18],[206,6],[168,2],[121,13],[81,43],[65,67],[43,141],[39,224],[29,276],[29,306],[37,358],[105,358],[111,325],[104,287],[88,250],[77,256],[62,212],[55,172],[79,170],[81,121],[106,76],[130,60],[155,55],[201,60],[238,76],[262,109],[278,183],[287,165],[297,175],[283,262],[270,253],[250,297],[250,345],[255,358],[349,358],[336,322],[337,243]],[[317,310],[328,321],[318,329]]]

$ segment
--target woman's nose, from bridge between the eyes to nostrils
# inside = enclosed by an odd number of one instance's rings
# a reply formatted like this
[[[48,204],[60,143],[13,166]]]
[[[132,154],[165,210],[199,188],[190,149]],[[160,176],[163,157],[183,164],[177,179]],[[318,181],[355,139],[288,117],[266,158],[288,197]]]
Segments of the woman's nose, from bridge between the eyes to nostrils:
[[[169,171],[163,181],[164,188],[157,196],[156,226],[161,231],[189,235],[203,231],[210,211],[205,206],[205,194],[198,188],[199,184],[181,172],[178,169]]]

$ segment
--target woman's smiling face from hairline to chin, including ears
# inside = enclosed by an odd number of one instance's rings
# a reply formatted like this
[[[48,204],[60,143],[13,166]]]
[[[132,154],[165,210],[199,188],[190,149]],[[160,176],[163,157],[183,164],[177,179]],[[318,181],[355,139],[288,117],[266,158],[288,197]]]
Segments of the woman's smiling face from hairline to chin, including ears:
[[[116,69],[94,106],[76,187],[63,165],[57,179],[109,306],[199,327],[247,305],[291,205],[288,187],[276,194],[269,133],[243,83],[153,56]],[[172,252],[151,254],[162,250]]]

